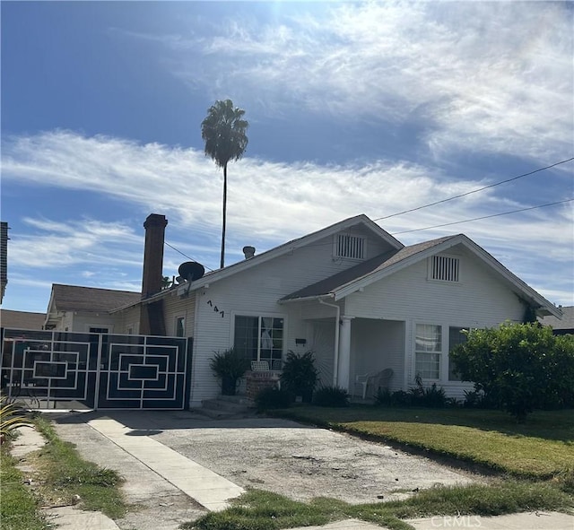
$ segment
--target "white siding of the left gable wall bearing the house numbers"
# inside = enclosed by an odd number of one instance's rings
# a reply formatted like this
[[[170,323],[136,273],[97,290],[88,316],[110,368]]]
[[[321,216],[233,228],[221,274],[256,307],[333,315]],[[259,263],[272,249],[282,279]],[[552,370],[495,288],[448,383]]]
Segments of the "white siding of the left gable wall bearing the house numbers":
[[[368,257],[390,248],[366,230],[364,234],[368,237]],[[357,264],[356,260],[334,259],[333,241],[329,236],[197,291],[191,406],[220,392],[209,369],[209,360],[213,352],[223,351],[233,343],[235,315],[284,317],[283,355],[296,350],[295,338],[311,340],[309,336],[301,337],[307,333],[307,326],[300,309],[291,304],[278,304],[277,300]],[[318,303],[316,306],[326,317],[335,317],[335,308]]]

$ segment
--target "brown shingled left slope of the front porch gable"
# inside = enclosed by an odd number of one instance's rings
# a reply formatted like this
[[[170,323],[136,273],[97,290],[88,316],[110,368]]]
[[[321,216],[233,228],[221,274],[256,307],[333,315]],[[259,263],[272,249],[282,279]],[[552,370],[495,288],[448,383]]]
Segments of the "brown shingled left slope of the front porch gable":
[[[291,294],[283,297],[280,301],[286,302],[290,300],[302,300],[333,295],[335,294],[335,291],[342,289],[345,285],[351,282],[356,282],[370,276],[370,274],[375,274],[379,271],[382,271],[391,265],[396,265],[408,257],[414,256],[423,250],[427,250],[429,248],[440,245],[440,243],[443,243],[444,241],[447,241],[453,237],[456,236],[431,239],[431,241],[417,243],[416,245],[404,247],[400,250],[391,250],[390,252],[379,254],[378,256],[372,257],[369,260],[360,263],[359,265],[355,265],[340,273],[330,276],[325,280],[321,280],[320,282],[308,285],[299,291],[291,292]]]

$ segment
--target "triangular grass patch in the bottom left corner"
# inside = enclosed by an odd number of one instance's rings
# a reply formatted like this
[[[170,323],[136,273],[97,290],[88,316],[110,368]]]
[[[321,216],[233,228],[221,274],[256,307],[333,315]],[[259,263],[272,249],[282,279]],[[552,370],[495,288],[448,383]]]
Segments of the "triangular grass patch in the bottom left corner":
[[[9,442],[4,443],[0,458],[0,527],[3,530],[47,530],[48,524],[38,513],[38,500],[23,483],[18,461],[9,453]]]

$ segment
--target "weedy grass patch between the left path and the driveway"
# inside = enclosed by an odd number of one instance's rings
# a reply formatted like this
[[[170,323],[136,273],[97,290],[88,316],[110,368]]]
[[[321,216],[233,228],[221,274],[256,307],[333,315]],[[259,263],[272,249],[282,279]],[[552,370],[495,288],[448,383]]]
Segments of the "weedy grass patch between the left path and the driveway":
[[[74,444],[59,439],[45,419],[39,418],[36,425],[47,444],[30,460],[41,476],[39,493],[44,502],[77,504],[78,508],[100,511],[112,519],[123,517],[127,507],[119,491],[122,479],[117,472],[83,460]]]

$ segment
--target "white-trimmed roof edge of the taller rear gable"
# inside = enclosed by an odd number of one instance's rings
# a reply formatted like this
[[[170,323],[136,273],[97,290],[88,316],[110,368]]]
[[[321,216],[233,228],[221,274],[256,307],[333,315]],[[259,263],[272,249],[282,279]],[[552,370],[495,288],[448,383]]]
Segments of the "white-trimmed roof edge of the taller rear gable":
[[[279,247],[271,248],[270,250],[262,252],[261,254],[257,254],[256,256],[250,257],[243,261],[239,261],[236,264],[229,265],[225,268],[207,273],[199,280],[193,282],[191,285],[187,282],[182,283],[178,287],[178,294],[184,294],[188,290],[199,289],[200,287],[203,287],[206,283],[217,282],[219,280],[222,280],[223,278],[227,278],[233,274],[245,271],[246,269],[249,269],[251,267],[261,265],[271,259],[274,259],[275,257],[288,254],[295,248],[305,247],[311,243],[316,242],[319,239],[327,238],[329,236],[336,234],[341,230],[348,230],[356,225],[361,225],[365,229],[370,230],[370,232],[372,232],[376,237],[387,241],[388,244],[390,244],[397,250],[400,248],[404,248],[403,243],[401,243],[398,239],[391,236],[387,232],[387,230],[383,230],[382,228],[380,228],[376,222],[371,221],[369,217],[367,217],[364,213],[361,213],[360,215],[349,217],[344,221],[335,222],[335,224],[327,226],[324,229],[311,232],[310,234],[302,236],[301,238],[291,239],[291,241],[283,243],[283,245],[280,245]],[[161,292],[155,296],[157,297],[163,295],[165,295],[165,293]],[[153,298],[155,297],[151,297],[150,300],[152,300]]]

